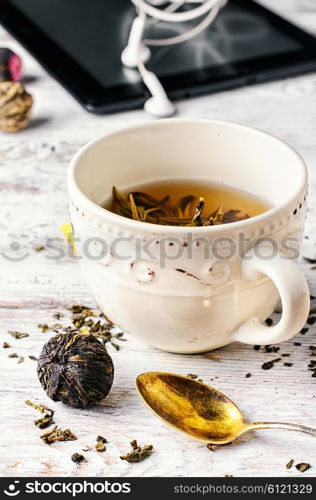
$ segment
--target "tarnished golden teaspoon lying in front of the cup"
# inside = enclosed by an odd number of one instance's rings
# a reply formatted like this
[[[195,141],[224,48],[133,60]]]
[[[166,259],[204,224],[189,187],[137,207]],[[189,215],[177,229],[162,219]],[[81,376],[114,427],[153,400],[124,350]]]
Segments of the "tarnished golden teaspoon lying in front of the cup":
[[[281,422],[246,422],[227,396],[197,380],[165,372],[147,372],[136,389],[150,410],[166,424],[193,439],[226,444],[257,429],[288,429],[316,437],[316,429]]]

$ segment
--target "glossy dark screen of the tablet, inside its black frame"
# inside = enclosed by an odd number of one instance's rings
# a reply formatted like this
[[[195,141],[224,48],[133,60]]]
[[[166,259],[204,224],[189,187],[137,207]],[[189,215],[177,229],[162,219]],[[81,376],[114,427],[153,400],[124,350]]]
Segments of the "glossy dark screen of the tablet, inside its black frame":
[[[139,81],[138,71],[122,67],[135,8],[130,0],[11,0],[56,44],[103,87]],[[198,20],[199,21],[199,20]],[[165,38],[196,24],[159,23],[146,37]],[[148,67],[160,77],[203,72],[265,56],[295,52],[301,44],[279,31],[268,16],[247,9],[247,2],[230,0],[215,22],[196,38],[171,47],[152,49]]]

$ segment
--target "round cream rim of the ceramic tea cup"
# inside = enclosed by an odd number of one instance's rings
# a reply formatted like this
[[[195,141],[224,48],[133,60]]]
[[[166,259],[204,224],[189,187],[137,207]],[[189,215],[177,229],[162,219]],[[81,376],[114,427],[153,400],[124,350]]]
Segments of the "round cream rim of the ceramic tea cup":
[[[216,226],[168,226],[168,225],[161,225],[161,224],[153,224],[149,222],[141,222],[134,220],[134,219],[128,219],[127,217],[123,217],[122,215],[116,214],[111,212],[110,210],[101,207],[94,201],[92,201],[88,196],[86,196],[80,187],[77,184],[77,181],[75,179],[75,172],[76,168],[79,164],[79,160],[85,155],[85,153],[89,150],[92,149],[96,144],[106,141],[107,139],[110,139],[111,137],[115,136],[120,136],[122,134],[126,134],[129,132],[133,132],[139,129],[145,129],[150,126],[150,127],[155,127],[155,126],[160,126],[161,124],[164,125],[165,123],[182,123],[182,124],[192,124],[192,123],[197,123],[197,124],[209,124],[209,123],[218,123],[221,125],[228,125],[229,127],[232,128],[238,128],[238,129],[244,129],[247,130],[248,132],[251,132],[256,135],[265,135],[270,140],[275,141],[285,147],[287,150],[289,150],[292,154],[295,155],[296,159],[300,163],[302,167],[302,180],[301,182],[297,185],[295,192],[293,192],[291,198],[287,201],[285,201],[282,204],[279,204],[275,207],[272,207],[271,209],[267,210],[266,212],[263,212],[262,214],[256,215],[254,217],[249,217],[248,219],[244,219],[241,221],[237,222],[229,222],[227,224],[218,224]],[[308,178],[308,172],[307,172],[307,167],[305,164],[305,161],[303,160],[302,156],[292,147],[290,146],[287,142],[284,140],[276,137],[273,134],[270,134],[269,132],[265,132],[263,130],[260,130],[257,127],[252,127],[245,125],[243,123],[239,122],[231,122],[229,120],[219,120],[219,119],[208,119],[208,118],[203,118],[203,119],[196,119],[196,118],[166,118],[166,119],[160,119],[156,120],[154,122],[147,122],[147,123],[142,123],[139,125],[132,125],[130,127],[124,127],[119,130],[115,130],[113,132],[108,132],[105,134],[102,134],[101,136],[97,137],[96,139],[90,140],[87,144],[82,146],[77,153],[73,156],[72,160],[70,161],[70,164],[68,166],[68,171],[67,171],[67,184],[68,184],[68,193],[70,198],[72,198],[72,194],[75,194],[76,200],[80,202],[80,208],[85,208],[88,210],[90,214],[93,214],[96,217],[101,217],[102,219],[106,218],[109,222],[113,223],[113,225],[119,225],[119,226],[125,226],[129,228],[134,228],[135,230],[141,231],[141,232],[147,232],[147,233],[155,233],[155,234],[170,234],[170,233],[184,233],[184,232],[192,232],[194,234],[198,233],[203,233],[203,234],[209,234],[209,233],[214,233],[214,232],[226,232],[234,228],[234,230],[238,230],[240,228],[245,228],[249,227],[253,224],[258,224],[261,222],[264,222],[268,218],[273,218],[274,216],[277,216],[286,208],[290,203],[293,202],[302,192],[304,189],[306,183],[307,183],[307,178]]]

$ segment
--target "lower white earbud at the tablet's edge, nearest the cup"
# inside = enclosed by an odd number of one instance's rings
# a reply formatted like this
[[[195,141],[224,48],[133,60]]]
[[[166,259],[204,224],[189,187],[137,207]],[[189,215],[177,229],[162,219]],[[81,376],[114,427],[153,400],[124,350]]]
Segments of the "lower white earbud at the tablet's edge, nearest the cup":
[[[145,102],[145,110],[157,118],[167,118],[174,115],[176,108],[168,98],[155,73],[145,70],[142,72],[142,77],[146,87],[152,94],[152,97]]]

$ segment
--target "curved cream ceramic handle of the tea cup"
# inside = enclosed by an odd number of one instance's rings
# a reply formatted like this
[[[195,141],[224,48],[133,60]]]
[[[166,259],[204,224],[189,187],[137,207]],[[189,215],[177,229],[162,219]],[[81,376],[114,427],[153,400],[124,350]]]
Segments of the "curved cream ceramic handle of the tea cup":
[[[276,286],[281,302],[282,316],[272,327],[252,318],[233,334],[234,340],[244,344],[268,345],[284,342],[294,337],[305,325],[310,310],[309,290],[297,264],[280,254],[264,259],[250,250],[241,263],[242,279],[268,276]]]

